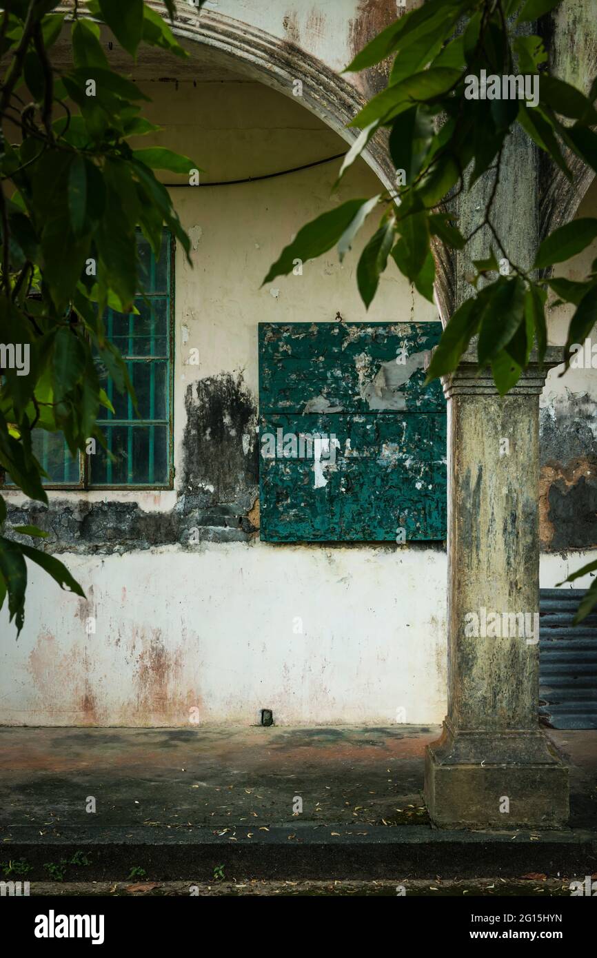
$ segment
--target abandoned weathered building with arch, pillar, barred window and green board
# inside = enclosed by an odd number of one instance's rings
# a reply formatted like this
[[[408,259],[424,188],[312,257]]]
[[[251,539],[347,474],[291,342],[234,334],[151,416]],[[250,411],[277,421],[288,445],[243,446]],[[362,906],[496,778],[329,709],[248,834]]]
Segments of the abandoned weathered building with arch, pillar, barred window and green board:
[[[561,376],[570,311],[556,306],[545,367],[532,362],[505,399],[473,356],[444,388],[425,387],[466,262],[438,259],[435,305],[392,263],[366,311],[355,270],[375,222],[342,263],[333,251],[262,285],[310,218],[391,184],[374,137],[332,194],[346,124],[385,81],[380,68],[342,71],[401,9],[180,3],[173,30],[189,59],[151,49],[132,67],[105,35],[164,127],[143,145],[202,170],[197,185],[162,175],[193,268],[167,233],[157,261],[140,239],[147,296],[139,316],[110,314],[108,326],[140,407],[137,418],[110,394],[116,461],[100,448],[72,461],[44,434],[49,508],[3,490],[10,520],[50,533],[44,548],[86,600],[30,567],[18,639],[2,612],[0,722],[193,728],[256,724],[268,710],[277,725],[385,726],[448,712],[448,738],[428,755],[437,820],[466,819],[448,766],[474,766],[461,783],[470,820],[491,822],[479,789],[509,764],[525,820],[557,825],[566,770],[539,715],[597,727],[594,646],[592,659],[550,665],[533,626],[511,642],[487,622],[494,609],[558,611],[569,586],[561,600],[553,590],[597,556],[597,338]],[[552,69],[583,87],[597,63],[592,0],[547,20]],[[499,216],[524,258],[555,226],[597,215],[597,184],[582,169],[567,183],[513,139]],[[483,189],[463,202],[469,222]],[[597,243],[560,275],[584,276],[595,257]],[[287,434],[323,438],[293,456]]]

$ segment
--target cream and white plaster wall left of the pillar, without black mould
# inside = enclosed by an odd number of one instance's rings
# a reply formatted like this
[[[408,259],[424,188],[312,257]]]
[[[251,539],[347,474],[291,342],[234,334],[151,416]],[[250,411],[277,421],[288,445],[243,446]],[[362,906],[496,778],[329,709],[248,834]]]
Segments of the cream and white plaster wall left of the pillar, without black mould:
[[[159,142],[191,155],[208,182],[284,170],[344,148],[299,103],[259,84],[195,87],[188,80],[146,89],[154,98],[149,115],[168,126]],[[337,311],[346,321],[438,318],[393,263],[365,312],[355,269],[375,222],[342,265],[332,252],[306,263],[303,276],[260,288],[290,237],[329,208],[338,167],[335,161],[264,182],[172,191],[193,237],[194,262],[190,269],[177,250],[177,484],[187,386],[197,377],[241,373],[256,395],[258,322],[332,322]],[[359,161],[333,201],[378,189]],[[194,347],[198,367],[189,365]],[[81,494],[51,495],[76,501]],[[176,491],[83,495],[159,511],[172,508]],[[253,723],[260,708],[273,709],[281,724],[385,724],[397,715],[425,723],[445,714],[441,551],[256,541],[60,558],[87,602],[30,567],[18,641],[6,610],[0,613],[0,722],[185,726],[193,714]],[[90,616],[97,627],[88,635]]]

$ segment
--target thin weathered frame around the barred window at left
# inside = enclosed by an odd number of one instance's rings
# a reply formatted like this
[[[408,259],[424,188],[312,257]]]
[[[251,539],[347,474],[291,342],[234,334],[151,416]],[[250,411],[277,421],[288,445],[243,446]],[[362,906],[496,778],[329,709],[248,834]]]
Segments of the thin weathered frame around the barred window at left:
[[[140,231],[139,231],[140,232]],[[91,454],[79,451],[79,475],[78,483],[43,483],[44,490],[49,492],[98,492],[98,491],[161,491],[172,490],[174,487],[174,264],[176,252],[176,240],[170,230],[164,229],[164,233],[170,235],[170,282],[168,285],[169,310],[168,310],[168,347],[169,347],[169,371],[168,371],[168,480],[166,483],[110,483],[109,485],[97,485],[91,483]],[[97,420],[100,425],[103,420]],[[131,422],[144,422],[135,417]],[[7,485],[5,482],[5,472],[1,471],[0,488],[5,491],[20,491],[18,486]]]

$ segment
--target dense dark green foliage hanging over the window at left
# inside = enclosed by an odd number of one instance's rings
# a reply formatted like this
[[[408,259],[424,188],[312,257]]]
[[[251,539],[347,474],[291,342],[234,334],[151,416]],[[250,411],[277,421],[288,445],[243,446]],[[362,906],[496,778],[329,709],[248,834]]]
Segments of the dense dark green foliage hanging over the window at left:
[[[111,405],[101,372],[134,402],[103,315],[108,306],[134,311],[138,227],[156,256],[164,224],[189,256],[189,239],[154,170],[198,169],[166,148],[130,147],[130,137],[159,127],[141,113],[148,97],[111,69],[102,41],[104,24],[131,63],[142,43],[187,57],[167,22],[143,0],[74,0],[72,13],[57,6],[6,0],[0,11],[0,469],[42,503],[34,429],[62,433],[73,455],[90,437],[105,447],[96,421],[100,407]],[[173,0],[166,6],[173,16]],[[71,61],[57,70],[52,47],[69,34]],[[6,517],[0,497],[0,527]],[[44,535],[34,526],[12,532]],[[26,559],[83,595],[57,559],[0,536],[0,607],[8,598],[18,631]]]

